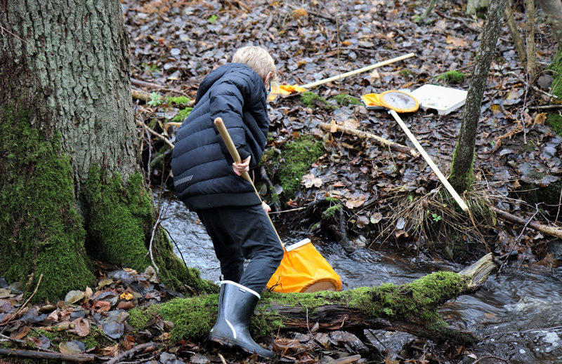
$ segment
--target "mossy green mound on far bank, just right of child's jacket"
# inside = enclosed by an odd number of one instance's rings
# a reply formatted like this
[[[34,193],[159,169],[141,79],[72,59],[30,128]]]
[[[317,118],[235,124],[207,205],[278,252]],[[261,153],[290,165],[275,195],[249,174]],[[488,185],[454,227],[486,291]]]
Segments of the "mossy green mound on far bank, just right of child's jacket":
[[[263,161],[268,174],[280,182],[283,196],[292,198],[301,186],[301,179],[322,154],[324,146],[320,140],[311,135],[303,135],[280,148],[281,154],[273,149],[266,151]]]

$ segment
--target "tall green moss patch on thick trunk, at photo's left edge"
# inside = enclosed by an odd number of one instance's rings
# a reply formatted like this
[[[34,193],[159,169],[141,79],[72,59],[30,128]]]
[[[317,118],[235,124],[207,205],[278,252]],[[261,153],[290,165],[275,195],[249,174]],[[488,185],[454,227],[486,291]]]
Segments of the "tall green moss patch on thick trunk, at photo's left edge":
[[[60,134],[48,140],[25,112],[0,110],[0,276],[28,283],[34,302],[60,299],[96,282],[74,181]]]

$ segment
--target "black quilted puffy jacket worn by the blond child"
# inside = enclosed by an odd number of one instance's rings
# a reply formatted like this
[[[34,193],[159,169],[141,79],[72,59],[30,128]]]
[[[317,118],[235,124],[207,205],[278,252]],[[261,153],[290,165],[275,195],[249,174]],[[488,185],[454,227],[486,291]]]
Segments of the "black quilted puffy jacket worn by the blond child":
[[[228,63],[209,73],[197,90],[195,107],[176,135],[171,169],[178,198],[190,210],[261,203],[254,187],[232,168],[233,159],[218,134],[221,117],[242,159],[255,168],[266,147],[266,88],[242,63]]]

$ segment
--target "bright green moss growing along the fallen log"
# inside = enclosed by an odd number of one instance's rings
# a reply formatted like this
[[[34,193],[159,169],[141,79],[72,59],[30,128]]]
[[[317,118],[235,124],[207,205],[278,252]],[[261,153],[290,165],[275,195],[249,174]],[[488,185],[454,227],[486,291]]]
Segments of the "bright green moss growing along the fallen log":
[[[430,330],[446,330],[446,324],[437,313],[440,304],[458,297],[467,285],[462,276],[454,272],[437,272],[404,285],[383,284],[374,288],[356,288],[343,292],[275,293],[263,292],[250,329],[254,337],[273,335],[287,317],[274,306],[299,306],[311,322],[315,322],[322,306],[336,304],[353,309],[367,318],[388,318],[390,321],[407,321]],[[207,337],[216,321],[218,295],[203,295],[186,299],[173,299],[146,309],[129,311],[129,324],[143,330],[151,318],[158,316],[172,321],[172,341],[179,339],[201,340]]]

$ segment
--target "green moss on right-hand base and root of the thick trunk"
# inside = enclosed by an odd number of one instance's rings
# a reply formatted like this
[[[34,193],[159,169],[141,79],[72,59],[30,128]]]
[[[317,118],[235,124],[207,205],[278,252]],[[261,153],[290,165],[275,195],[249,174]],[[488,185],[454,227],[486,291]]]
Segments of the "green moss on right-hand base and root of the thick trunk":
[[[147,256],[155,224],[152,194],[145,187],[141,173],[129,177],[126,186],[116,174],[107,177],[95,166],[91,168],[84,189],[91,205],[89,220],[90,254],[104,262],[144,271],[152,264]],[[174,254],[164,229],[156,229],[152,255],[164,284],[185,292],[187,285],[198,292],[217,292],[214,283],[200,278],[197,269],[185,269]]]

